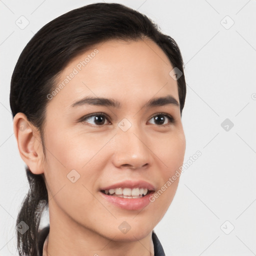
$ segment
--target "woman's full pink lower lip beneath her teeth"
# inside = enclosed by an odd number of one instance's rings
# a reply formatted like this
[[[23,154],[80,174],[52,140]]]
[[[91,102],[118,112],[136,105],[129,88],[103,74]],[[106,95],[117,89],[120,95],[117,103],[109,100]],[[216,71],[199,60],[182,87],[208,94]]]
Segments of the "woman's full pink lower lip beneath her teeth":
[[[149,204],[149,197],[154,191],[146,194],[140,198],[122,198],[114,195],[107,195],[99,191],[104,199],[113,203],[114,205],[126,210],[140,210]]]

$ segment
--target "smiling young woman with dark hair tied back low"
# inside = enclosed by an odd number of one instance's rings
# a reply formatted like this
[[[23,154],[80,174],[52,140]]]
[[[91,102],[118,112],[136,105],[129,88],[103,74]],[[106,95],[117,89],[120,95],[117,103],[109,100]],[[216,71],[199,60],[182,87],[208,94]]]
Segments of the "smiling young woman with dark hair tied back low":
[[[30,185],[19,255],[164,255],[153,228],[178,184],[185,94],[176,42],[135,10],[95,3],[43,26],[11,78]]]

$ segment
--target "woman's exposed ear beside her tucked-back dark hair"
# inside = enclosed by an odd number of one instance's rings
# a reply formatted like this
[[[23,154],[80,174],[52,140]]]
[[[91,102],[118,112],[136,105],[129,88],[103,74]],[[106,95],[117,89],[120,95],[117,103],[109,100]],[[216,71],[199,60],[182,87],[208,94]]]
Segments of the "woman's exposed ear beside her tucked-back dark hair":
[[[44,154],[38,129],[19,112],[13,118],[13,130],[23,161],[32,173],[43,173]]]

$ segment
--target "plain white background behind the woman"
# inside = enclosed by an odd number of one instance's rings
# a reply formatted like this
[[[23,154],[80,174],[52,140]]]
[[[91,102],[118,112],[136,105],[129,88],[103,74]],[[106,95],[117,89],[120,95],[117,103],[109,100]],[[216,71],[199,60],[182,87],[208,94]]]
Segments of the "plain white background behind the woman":
[[[39,28],[92,2],[0,1],[0,255],[17,255],[15,219],[28,190],[9,107],[14,65]],[[154,228],[166,256],[255,255],[256,1],[115,2],[153,19],[176,40],[185,63],[184,162],[197,150],[202,155],[184,170]],[[15,24],[21,15],[29,21],[24,29]],[[226,118],[234,124],[228,131],[221,126]]]

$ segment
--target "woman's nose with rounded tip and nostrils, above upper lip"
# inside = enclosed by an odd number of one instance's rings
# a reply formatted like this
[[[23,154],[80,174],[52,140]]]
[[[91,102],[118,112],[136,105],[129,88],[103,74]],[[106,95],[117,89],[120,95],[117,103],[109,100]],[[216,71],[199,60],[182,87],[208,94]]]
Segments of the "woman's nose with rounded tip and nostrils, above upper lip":
[[[114,136],[113,164],[118,168],[141,169],[152,163],[152,151],[146,134],[135,125],[128,130],[117,129]],[[150,146],[150,145],[149,145]]]

